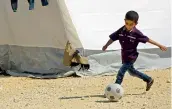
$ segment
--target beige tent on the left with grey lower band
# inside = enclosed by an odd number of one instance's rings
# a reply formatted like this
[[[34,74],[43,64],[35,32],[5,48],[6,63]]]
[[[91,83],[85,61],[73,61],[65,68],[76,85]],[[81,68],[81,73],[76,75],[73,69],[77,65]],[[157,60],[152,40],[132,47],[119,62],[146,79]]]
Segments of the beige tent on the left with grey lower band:
[[[67,41],[82,53],[83,46],[63,0],[51,0],[46,7],[35,1],[33,11],[28,10],[27,0],[19,0],[15,13],[10,1],[3,0],[0,13],[0,67],[10,75],[65,75],[70,71],[63,65]]]

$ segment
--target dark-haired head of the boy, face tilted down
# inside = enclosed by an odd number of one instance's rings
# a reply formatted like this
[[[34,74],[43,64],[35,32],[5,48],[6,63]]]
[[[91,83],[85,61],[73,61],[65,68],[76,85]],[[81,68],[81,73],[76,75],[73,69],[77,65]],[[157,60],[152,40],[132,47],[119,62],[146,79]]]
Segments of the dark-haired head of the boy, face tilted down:
[[[139,15],[135,11],[128,11],[125,15],[125,27],[131,31],[138,23]]]

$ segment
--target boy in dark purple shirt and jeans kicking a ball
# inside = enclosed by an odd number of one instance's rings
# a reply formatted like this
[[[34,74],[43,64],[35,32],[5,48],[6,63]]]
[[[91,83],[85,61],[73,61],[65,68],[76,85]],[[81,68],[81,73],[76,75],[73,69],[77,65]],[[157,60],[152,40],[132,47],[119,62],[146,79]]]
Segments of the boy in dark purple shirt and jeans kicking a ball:
[[[122,67],[118,71],[117,78],[115,83],[121,84],[125,72],[128,71],[130,75],[136,76],[147,83],[146,91],[149,91],[154,80],[150,76],[137,71],[134,68],[134,62],[136,61],[139,53],[137,52],[137,46],[140,42],[146,43],[149,42],[153,45],[158,46],[162,51],[166,51],[167,48],[147,36],[143,35],[137,28],[139,15],[135,11],[128,11],[125,15],[125,25],[118,29],[116,32],[112,33],[109,37],[109,41],[106,45],[103,46],[102,50],[105,51],[107,47],[112,44],[114,41],[119,40],[121,45],[121,54],[122,54]]]

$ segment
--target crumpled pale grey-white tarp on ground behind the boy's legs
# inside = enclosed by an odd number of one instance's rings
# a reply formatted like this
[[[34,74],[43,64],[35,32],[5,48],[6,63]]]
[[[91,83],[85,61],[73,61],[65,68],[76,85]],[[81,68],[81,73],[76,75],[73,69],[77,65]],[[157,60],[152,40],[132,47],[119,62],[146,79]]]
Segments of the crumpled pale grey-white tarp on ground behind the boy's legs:
[[[75,68],[77,75],[81,77],[114,75],[117,74],[118,70],[122,66],[120,51],[94,54],[88,56],[88,59],[91,68],[88,71],[77,71],[78,68]],[[165,69],[171,67],[171,57],[160,58],[158,54],[140,52],[140,55],[134,66],[141,72],[154,69]]]

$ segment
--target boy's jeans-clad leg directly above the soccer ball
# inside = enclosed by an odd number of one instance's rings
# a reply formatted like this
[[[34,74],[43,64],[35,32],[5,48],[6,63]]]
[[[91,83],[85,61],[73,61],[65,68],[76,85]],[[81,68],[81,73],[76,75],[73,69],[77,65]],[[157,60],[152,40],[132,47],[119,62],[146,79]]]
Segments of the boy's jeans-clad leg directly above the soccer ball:
[[[125,75],[125,72],[131,67],[132,64],[124,63],[122,67],[119,69],[118,74],[116,76],[115,83],[121,84]]]

